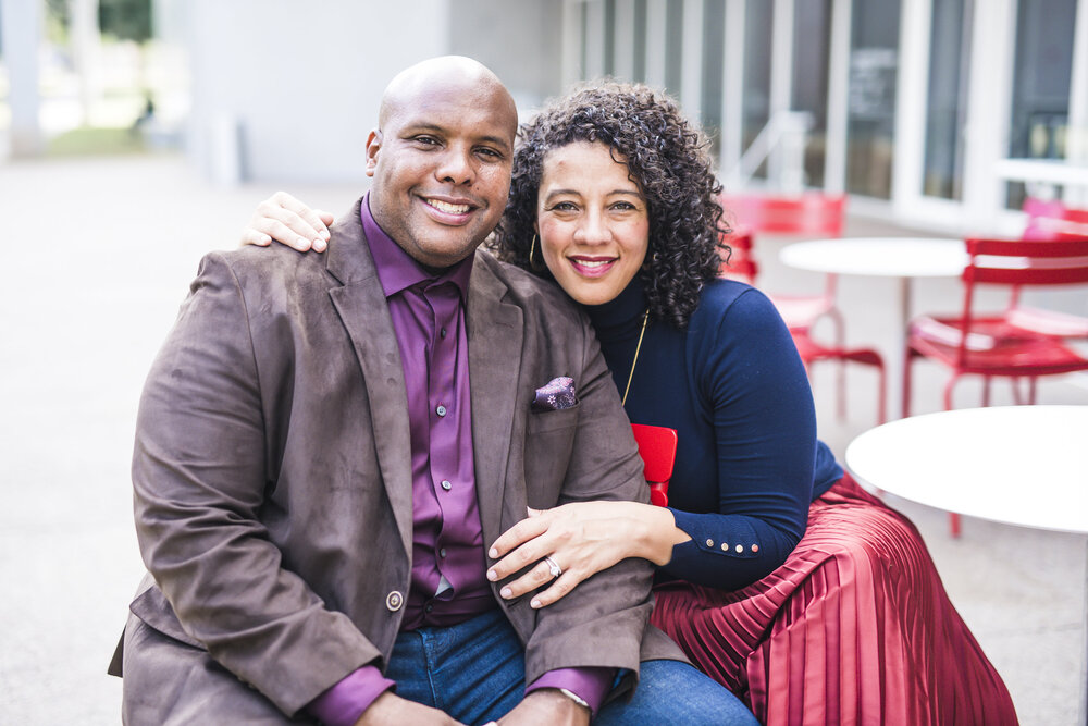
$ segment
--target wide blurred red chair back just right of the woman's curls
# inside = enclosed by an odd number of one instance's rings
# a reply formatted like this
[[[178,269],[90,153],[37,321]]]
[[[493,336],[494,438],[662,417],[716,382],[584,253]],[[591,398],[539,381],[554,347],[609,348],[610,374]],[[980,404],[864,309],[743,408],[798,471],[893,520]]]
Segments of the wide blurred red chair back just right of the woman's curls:
[[[735,223],[767,234],[841,237],[846,214],[844,195],[818,193],[799,196],[745,194],[721,197],[721,207]]]

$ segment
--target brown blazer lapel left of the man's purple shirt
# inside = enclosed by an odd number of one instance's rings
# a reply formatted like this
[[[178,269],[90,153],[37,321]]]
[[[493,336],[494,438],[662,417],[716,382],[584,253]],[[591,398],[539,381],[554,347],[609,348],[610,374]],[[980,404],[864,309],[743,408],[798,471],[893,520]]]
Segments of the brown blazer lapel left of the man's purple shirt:
[[[405,554],[410,561],[412,484],[408,394],[393,318],[362,232],[360,201],[331,230],[326,267],[343,286],[330,290],[329,296],[362,368],[379,467]],[[359,442],[359,445],[366,444]]]

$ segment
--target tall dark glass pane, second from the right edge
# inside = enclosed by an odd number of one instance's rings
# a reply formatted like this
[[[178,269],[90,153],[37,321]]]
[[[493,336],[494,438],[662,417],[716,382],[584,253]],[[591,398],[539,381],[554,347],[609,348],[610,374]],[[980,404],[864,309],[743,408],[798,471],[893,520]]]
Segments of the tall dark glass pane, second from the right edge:
[[[963,199],[972,0],[932,0],[922,193]]]

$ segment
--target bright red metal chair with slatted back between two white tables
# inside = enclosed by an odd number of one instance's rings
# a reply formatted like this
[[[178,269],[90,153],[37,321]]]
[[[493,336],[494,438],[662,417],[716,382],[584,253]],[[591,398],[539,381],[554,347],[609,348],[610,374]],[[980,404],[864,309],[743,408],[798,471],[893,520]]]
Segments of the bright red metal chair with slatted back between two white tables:
[[[1046,242],[969,238],[966,244],[969,262],[963,271],[962,312],[920,316],[908,327],[903,367],[904,417],[910,415],[911,367],[917,358],[929,358],[952,370],[944,386],[945,410],[952,408],[956,381],[968,373],[982,377],[982,405],[988,406],[993,377],[1012,379],[1016,403],[1021,403],[1017,381],[1028,379],[1027,403],[1034,404],[1039,377],[1088,370],[1088,358],[1068,345],[1072,335],[1066,333],[1076,331],[1047,332],[1047,325],[1064,319],[1063,313],[1047,311],[1040,322],[1033,309],[1018,305],[1022,287],[1088,283],[1088,236]],[[1012,305],[997,315],[976,313],[975,287],[981,284],[1009,287]],[[1068,318],[1076,320],[1075,316]],[[1088,334],[1084,340],[1088,341]],[[960,533],[955,515],[952,533]]]

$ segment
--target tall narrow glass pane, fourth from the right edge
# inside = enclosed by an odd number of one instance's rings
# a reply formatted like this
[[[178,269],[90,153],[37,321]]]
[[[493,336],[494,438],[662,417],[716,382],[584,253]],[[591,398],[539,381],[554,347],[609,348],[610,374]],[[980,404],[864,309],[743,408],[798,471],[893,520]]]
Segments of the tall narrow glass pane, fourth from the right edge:
[[[791,108],[812,114],[805,143],[805,184],[824,186],[827,141],[827,81],[831,50],[831,0],[805,0],[793,8]]]

